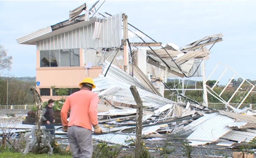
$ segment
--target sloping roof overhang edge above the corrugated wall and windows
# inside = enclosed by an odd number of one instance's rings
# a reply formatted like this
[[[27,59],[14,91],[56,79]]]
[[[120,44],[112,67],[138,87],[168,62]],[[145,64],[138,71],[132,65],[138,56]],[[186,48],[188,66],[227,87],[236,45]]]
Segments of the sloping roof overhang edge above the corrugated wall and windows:
[[[97,21],[97,19],[99,18],[92,17],[90,18],[90,21],[80,21],[72,25],[57,29],[55,31],[53,31],[52,26],[48,26],[43,29],[34,31],[28,35],[17,38],[16,40],[18,44],[36,45],[36,42],[41,41],[43,39],[47,39],[65,32],[75,30],[77,28],[81,28],[81,27],[93,24]]]

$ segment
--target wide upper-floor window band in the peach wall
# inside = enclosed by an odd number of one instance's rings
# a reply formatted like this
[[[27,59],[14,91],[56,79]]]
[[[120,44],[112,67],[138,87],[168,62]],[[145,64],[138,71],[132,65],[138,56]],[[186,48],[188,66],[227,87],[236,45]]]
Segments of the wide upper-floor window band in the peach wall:
[[[41,50],[40,67],[80,66],[79,49]]]

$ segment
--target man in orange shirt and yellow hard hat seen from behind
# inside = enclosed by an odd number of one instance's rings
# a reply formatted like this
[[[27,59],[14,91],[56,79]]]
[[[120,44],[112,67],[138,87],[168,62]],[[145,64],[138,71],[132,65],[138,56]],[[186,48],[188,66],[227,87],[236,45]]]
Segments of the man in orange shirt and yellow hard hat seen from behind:
[[[99,97],[92,92],[93,79],[87,77],[79,84],[81,90],[68,96],[61,109],[62,130],[68,132],[68,141],[73,158],[92,157],[92,126],[94,133],[101,134],[98,125],[97,106]],[[70,110],[69,122],[67,114]]]

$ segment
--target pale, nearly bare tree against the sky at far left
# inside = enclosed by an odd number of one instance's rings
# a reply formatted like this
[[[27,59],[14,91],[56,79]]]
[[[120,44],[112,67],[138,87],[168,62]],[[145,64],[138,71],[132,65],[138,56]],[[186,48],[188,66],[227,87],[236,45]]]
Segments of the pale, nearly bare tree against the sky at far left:
[[[4,49],[3,45],[0,45],[0,71],[10,70],[12,64],[12,56],[7,56],[7,50]]]

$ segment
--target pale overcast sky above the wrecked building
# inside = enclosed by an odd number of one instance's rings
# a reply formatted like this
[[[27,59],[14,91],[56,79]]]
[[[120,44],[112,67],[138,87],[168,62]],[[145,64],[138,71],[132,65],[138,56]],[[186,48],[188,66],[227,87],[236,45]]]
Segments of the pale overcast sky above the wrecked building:
[[[13,56],[12,69],[3,76],[36,76],[36,46],[16,38],[65,21],[69,10],[84,2],[91,7],[89,1],[0,1],[0,44]],[[106,1],[99,12],[126,13],[129,23],[156,41],[180,47],[222,33],[224,41],[214,45],[206,62],[206,77],[221,62],[255,80],[255,8],[256,1]]]

